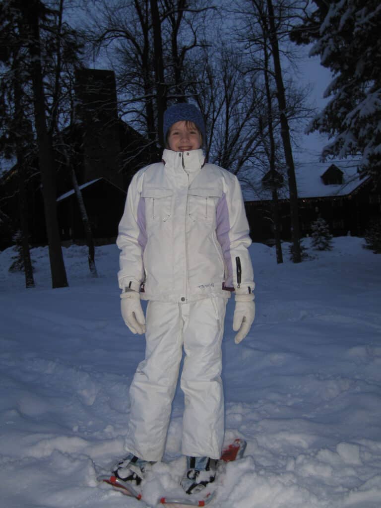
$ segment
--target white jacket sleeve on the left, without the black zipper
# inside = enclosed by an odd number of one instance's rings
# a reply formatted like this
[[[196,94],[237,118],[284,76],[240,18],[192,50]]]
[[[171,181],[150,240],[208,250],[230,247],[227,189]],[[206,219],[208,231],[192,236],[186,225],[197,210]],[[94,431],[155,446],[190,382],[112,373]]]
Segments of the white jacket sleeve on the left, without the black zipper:
[[[143,252],[147,242],[145,230],[145,204],[141,197],[142,172],[134,175],[119,223],[116,244],[119,255],[119,288],[139,291],[144,281]],[[139,190],[140,187],[140,190]]]

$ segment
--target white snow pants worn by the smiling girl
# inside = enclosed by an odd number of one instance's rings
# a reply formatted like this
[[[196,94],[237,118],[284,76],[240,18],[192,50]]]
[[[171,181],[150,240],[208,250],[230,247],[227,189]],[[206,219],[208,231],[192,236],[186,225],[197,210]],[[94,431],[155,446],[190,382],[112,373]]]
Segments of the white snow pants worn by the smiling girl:
[[[221,341],[226,303],[220,297],[182,304],[148,302],[145,360],[130,387],[127,451],[144,460],[162,459],[184,347],[182,453],[220,457],[224,440]]]

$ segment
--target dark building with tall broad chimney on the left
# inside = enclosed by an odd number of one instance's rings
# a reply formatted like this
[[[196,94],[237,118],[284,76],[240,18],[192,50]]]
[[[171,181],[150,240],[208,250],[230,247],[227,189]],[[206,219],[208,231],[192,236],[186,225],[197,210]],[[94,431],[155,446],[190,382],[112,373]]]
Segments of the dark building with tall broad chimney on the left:
[[[78,70],[75,93],[73,122],[63,130],[62,140],[69,147],[70,164],[83,192],[95,242],[113,241],[131,178],[138,169],[159,160],[159,154],[154,143],[118,117],[113,71]],[[72,171],[60,144],[61,140],[56,139],[56,194],[61,238],[65,242],[81,242],[83,226],[74,195]],[[37,149],[36,155],[28,161],[26,177],[29,243],[46,245]],[[15,165],[0,178],[3,217],[0,248],[11,245],[12,234],[19,229],[18,184]]]

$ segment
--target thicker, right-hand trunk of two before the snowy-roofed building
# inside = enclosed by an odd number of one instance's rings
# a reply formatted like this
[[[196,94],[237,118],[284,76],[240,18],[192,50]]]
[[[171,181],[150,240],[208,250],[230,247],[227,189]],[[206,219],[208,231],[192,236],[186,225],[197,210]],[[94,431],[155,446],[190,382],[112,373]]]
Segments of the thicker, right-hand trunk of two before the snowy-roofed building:
[[[277,99],[280,114],[280,133],[283,142],[284,158],[287,165],[287,174],[290,190],[290,217],[291,217],[291,236],[293,242],[293,262],[301,262],[301,252],[299,243],[299,216],[298,216],[298,190],[296,185],[294,159],[290,140],[289,122],[286,115],[286,103],[284,94],[284,85],[282,78],[282,68],[280,65],[278,38],[274,22],[274,9],[272,0],[267,0],[270,26],[270,44],[274,61],[275,82],[277,88]]]

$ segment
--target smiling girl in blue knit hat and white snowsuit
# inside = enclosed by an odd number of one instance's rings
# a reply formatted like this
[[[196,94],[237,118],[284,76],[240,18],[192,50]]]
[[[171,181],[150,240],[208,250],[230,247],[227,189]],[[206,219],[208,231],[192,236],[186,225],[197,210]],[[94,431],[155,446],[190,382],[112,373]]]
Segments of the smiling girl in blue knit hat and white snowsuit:
[[[190,494],[214,480],[223,446],[227,300],[235,292],[239,343],[255,317],[255,284],[240,185],[205,163],[201,112],[192,104],[170,107],[164,135],[163,161],[136,173],[119,224],[121,313],[133,333],[145,333],[146,353],[130,388],[129,455],[113,472],[139,484],[147,462],[162,459],[184,350],[181,485]],[[140,299],[148,300],[146,319]]]

